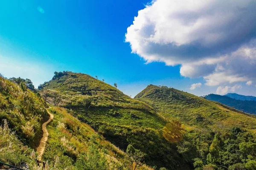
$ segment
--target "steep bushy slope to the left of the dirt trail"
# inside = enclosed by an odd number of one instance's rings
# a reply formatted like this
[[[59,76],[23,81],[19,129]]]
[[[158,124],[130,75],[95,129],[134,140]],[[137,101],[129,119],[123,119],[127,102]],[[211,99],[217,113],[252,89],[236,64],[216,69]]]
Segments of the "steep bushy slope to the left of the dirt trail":
[[[38,147],[47,119],[37,94],[0,77],[0,161],[17,167],[26,162],[31,169],[36,166],[29,154]]]

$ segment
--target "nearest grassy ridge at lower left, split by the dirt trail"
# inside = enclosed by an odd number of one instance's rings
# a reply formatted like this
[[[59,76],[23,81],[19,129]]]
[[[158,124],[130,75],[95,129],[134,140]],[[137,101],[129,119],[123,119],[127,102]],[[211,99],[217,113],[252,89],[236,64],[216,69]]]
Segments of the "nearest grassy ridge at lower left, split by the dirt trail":
[[[42,164],[38,164],[40,161],[44,161],[45,170],[125,170],[136,166],[152,170],[137,161],[142,155],[140,151],[129,147],[132,152],[125,153],[66,109],[47,109],[49,103],[43,100],[44,94],[35,89],[31,91],[23,80],[0,76],[1,162],[26,170],[43,169]],[[48,139],[42,160],[38,160],[39,153],[35,150],[45,135],[42,124],[49,119],[47,112],[54,118],[47,124]],[[0,169],[8,168],[0,164]]]

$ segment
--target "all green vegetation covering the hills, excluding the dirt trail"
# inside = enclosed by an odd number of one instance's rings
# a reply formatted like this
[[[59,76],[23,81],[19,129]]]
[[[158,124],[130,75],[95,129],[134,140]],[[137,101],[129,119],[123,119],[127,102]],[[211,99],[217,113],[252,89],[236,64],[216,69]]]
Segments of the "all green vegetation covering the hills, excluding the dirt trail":
[[[48,104],[46,170],[256,169],[255,115],[166,86],[133,99],[98,77],[54,74],[40,91],[0,76],[0,161],[41,168],[33,149]]]

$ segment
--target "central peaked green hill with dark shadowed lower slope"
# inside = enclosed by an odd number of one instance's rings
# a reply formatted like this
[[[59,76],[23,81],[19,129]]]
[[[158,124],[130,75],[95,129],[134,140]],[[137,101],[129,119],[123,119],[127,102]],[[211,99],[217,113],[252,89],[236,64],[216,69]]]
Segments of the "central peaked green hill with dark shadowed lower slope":
[[[190,166],[176,152],[176,144],[163,137],[166,122],[150,105],[81,73],[55,73],[40,88],[42,93],[49,93],[47,101],[52,104],[54,96],[61,95],[60,106],[120,149],[132,144],[145,153],[146,164],[184,170]]]

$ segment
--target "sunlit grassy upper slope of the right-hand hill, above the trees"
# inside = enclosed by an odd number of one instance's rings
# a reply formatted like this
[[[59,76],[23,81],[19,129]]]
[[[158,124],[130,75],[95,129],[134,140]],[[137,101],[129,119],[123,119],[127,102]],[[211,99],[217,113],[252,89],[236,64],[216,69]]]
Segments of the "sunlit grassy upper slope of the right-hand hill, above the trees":
[[[218,130],[238,126],[256,132],[253,116],[177,89],[150,85],[135,98],[153,106],[164,118],[177,118],[188,126]],[[198,116],[204,119],[204,124],[197,121]]]

